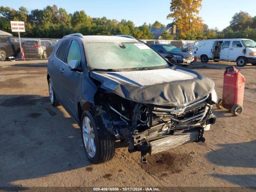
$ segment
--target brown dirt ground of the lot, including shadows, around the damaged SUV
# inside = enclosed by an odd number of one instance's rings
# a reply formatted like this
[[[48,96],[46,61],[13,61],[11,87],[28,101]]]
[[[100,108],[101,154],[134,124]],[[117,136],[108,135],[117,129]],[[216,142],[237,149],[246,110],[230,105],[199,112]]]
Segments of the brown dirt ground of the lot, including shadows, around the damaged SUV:
[[[218,62],[189,66],[210,78],[222,96]],[[148,157],[116,149],[100,165],[87,160],[78,125],[48,99],[46,61],[0,62],[0,186],[256,186],[256,67],[246,78],[244,113],[217,110],[205,143]]]

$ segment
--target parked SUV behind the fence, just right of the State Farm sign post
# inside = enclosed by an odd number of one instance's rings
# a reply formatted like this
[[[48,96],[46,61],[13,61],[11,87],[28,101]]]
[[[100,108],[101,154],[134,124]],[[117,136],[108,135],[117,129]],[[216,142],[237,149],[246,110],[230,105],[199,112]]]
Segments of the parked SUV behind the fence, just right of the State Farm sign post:
[[[52,53],[55,43],[51,40],[25,40],[23,46],[25,58],[47,59]]]

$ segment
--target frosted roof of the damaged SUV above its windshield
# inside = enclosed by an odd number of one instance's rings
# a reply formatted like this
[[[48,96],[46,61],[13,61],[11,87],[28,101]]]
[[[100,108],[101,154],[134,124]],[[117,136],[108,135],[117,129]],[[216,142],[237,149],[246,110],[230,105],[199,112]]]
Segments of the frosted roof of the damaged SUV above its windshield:
[[[83,36],[83,42],[139,42],[136,39],[121,36],[88,35]]]

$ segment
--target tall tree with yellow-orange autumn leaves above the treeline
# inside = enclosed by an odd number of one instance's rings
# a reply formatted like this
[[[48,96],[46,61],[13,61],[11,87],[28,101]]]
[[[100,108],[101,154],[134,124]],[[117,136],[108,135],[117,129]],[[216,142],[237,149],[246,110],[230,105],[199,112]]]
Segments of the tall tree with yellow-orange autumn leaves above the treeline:
[[[202,29],[202,18],[198,16],[202,8],[202,0],[172,0],[170,14],[167,18],[172,19],[180,33],[197,33]]]

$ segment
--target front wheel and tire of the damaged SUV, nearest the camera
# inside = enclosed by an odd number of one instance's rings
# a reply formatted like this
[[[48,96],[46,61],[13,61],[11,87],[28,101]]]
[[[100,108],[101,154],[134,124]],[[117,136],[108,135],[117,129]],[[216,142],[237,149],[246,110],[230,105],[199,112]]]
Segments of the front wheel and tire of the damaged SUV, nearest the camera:
[[[80,122],[82,142],[92,164],[111,160],[115,154],[115,139],[90,111],[84,111]]]

